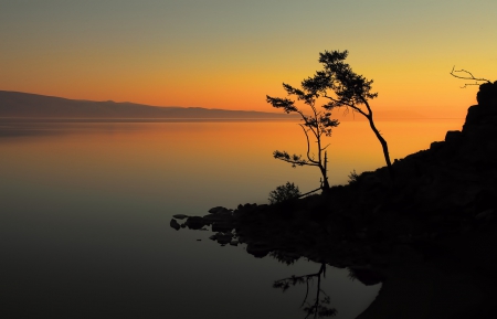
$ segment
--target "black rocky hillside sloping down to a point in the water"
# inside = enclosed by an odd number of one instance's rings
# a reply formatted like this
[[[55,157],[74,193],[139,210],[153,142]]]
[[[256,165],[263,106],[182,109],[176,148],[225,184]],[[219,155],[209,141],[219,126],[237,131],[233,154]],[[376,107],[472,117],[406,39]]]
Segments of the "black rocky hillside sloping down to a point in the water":
[[[382,288],[359,319],[497,318],[497,83],[480,85],[461,131],[357,174],[321,195],[215,208],[181,227],[212,226],[255,257],[349,267]],[[178,223],[179,224],[179,223]]]

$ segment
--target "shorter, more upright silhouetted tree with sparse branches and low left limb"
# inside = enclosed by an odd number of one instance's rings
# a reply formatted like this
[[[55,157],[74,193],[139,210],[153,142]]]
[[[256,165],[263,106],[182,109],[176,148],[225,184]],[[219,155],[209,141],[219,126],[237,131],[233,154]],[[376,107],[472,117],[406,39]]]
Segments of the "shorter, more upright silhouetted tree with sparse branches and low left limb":
[[[303,89],[295,88],[286,83],[283,83],[283,87],[288,93],[288,95],[296,96],[297,100],[303,102],[310,108],[310,115],[304,114],[304,110],[298,108],[295,103],[289,98],[271,97],[266,95],[266,102],[276,108],[283,108],[286,113],[296,113],[300,115],[304,124],[299,124],[307,140],[307,155],[304,158],[302,155],[288,155],[286,151],[275,150],[273,156],[275,159],[279,159],[292,163],[293,167],[297,166],[314,166],[318,167],[322,176],[321,189],[328,190],[329,182],[327,176],[327,153],[326,148],[328,146],[322,146],[322,136],[331,136],[331,128],[339,125],[337,119],[331,119],[331,113],[318,111],[316,108],[316,100],[319,97],[319,93],[313,88],[304,87]],[[314,136],[317,142],[317,156],[311,155],[309,132]]]

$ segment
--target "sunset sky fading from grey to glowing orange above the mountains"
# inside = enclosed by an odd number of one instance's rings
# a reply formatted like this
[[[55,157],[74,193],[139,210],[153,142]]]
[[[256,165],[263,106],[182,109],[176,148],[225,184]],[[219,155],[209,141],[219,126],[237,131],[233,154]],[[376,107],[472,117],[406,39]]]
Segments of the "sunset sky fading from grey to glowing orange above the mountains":
[[[274,111],[348,50],[380,113],[464,117],[497,79],[495,0],[0,0],[0,89],[157,106]]]

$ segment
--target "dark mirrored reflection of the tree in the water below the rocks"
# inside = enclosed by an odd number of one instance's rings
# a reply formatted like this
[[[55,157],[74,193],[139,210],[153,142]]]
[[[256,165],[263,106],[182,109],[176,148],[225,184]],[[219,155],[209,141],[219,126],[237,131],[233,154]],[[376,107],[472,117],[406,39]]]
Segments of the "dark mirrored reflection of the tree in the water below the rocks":
[[[316,274],[309,274],[304,276],[290,276],[287,278],[283,278],[274,281],[273,288],[282,289],[286,291],[289,287],[306,284],[306,295],[304,297],[304,301],[300,305],[300,308],[304,307],[304,311],[307,312],[306,319],[314,315],[314,318],[322,318],[322,317],[334,317],[337,315],[337,309],[330,308],[329,305],[331,302],[330,297],[326,294],[325,290],[321,289],[321,275],[326,277],[326,264],[322,263],[319,272]],[[307,301],[309,297],[309,281],[313,283],[314,279],[317,278],[316,286],[316,298],[313,304]]]

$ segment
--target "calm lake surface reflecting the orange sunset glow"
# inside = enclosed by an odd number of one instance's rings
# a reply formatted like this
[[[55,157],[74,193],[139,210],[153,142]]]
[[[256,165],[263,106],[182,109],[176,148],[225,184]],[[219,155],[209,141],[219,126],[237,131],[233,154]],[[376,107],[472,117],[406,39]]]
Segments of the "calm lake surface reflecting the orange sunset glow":
[[[463,119],[380,121],[392,159],[430,147]],[[329,179],[383,166],[367,123],[329,139]],[[177,232],[173,214],[266,203],[286,181],[319,187],[313,168],[274,150],[305,153],[292,121],[0,123],[0,298],[7,318],[305,318],[305,287],[275,280],[317,273],[221,247],[210,232]],[[321,288],[355,318],[381,285],[328,267]],[[311,301],[311,300],[308,300]]]

